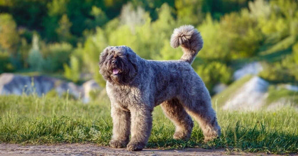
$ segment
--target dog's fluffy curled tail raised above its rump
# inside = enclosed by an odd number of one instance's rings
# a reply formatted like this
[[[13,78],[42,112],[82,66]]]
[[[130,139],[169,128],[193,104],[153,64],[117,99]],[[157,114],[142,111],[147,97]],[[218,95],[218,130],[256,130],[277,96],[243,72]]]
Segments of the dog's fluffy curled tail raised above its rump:
[[[195,56],[203,48],[203,39],[198,30],[192,25],[183,25],[174,29],[171,36],[171,46],[177,48],[179,45],[183,50],[180,60],[192,64]]]

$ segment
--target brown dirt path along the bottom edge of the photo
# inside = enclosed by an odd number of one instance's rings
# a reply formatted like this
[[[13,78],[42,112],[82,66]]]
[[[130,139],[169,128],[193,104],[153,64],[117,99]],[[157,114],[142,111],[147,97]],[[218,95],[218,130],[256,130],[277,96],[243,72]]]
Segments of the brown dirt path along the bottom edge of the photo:
[[[200,149],[189,148],[183,150],[159,150],[159,149],[143,149],[138,152],[128,152],[126,149],[113,149],[105,146],[98,146],[95,144],[56,144],[56,145],[17,145],[17,144],[0,144],[0,155],[226,155],[228,154],[224,149]],[[264,153],[247,154],[232,152],[232,155],[266,155]]]

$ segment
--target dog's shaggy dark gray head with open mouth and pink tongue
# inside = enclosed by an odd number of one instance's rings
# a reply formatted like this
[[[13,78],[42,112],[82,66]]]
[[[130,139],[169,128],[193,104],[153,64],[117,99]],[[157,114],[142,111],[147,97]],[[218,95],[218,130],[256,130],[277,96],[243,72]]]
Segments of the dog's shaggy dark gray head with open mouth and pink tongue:
[[[129,84],[137,74],[137,56],[127,46],[107,47],[100,54],[99,72],[112,84]]]

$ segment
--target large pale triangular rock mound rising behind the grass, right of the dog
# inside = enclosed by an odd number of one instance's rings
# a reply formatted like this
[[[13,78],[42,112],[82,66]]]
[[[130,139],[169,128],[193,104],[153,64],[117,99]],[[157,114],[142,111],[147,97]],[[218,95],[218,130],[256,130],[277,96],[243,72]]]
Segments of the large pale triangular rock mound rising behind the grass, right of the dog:
[[[238,111],[260,109],[266,103],[268,86],[267,81],[254,76],[235,91],[235,95],[232,95],[222,108]]]

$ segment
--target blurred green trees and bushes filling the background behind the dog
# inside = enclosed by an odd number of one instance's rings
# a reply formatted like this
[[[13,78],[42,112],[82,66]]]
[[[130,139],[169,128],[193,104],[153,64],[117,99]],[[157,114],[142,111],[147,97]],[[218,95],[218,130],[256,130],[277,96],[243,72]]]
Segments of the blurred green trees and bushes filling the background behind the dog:
[[[130,46],[145,59],[179,59],[173,29],[191,24],[204,47],[193,68],[209,91],[229,84],[240,64],[261,61],[274,83],[298,81],[294,0],[0,0],[0,73],[60,74],[100,85],[100,52]]]

